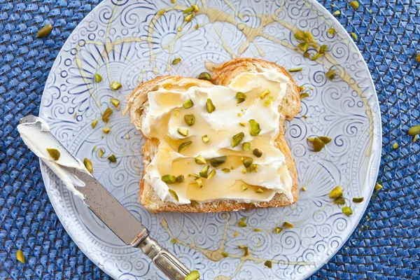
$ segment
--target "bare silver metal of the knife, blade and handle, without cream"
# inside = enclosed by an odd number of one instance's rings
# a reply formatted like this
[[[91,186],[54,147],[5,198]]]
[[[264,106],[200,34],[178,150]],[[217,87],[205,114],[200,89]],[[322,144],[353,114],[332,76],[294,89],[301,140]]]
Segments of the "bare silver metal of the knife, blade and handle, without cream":
[[[35,121],[35,116],[29,115],[22,118],[20,124],[34,123]],[[49,133],[55,138],[49,131],[43,133]],[[58,139],[57,142],[59,143]],[[123,204],[120,204],[99,181],[77,169],[67,169],[85,183],[84,187],[76,187],[85,196],[85,204],[125,244],[140,248],[169,279],[183,280],[186,278],[190,269],[167,249],[162,248],[158,241],[150,237],[147,228],[130,211],[125,209]]]

